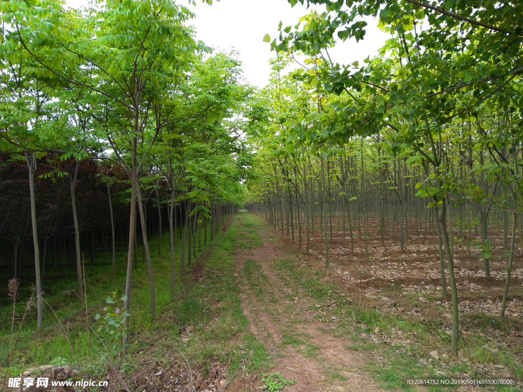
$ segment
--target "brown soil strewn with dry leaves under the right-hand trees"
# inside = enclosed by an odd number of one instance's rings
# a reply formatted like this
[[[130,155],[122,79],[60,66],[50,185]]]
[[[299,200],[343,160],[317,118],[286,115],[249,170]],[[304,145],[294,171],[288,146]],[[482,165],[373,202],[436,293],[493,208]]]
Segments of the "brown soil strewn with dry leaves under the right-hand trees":
[[[425,294],[434,296],[442,292],[436,233],[427,233],[425,243],[422,244],[423,231],[410,230],[404,240],[402,251],[399,236],[385,236],[382,246],[379,226],[369,225],[367,231],[368,259],[365,240],[358,238],[357,233],[354,235],[354,251],[351,251],[348,233],[345,241],[343,232],[340,231],[334,231],[332,238],[329,236],[329,256],[340,285],[348,292],[363,293],[373,306],[398,315],[430,318],[438,317],[442,310],[448,321],[445,329],[450,331],[451,296],[448,269],[446,269],[447,296],[431,302],[419,300]],[[396,233],[397,231],[396,228]],[[311,237],[311,253],[324,262],[324,239],[317,230]],[[491,280],[485,278],[484,259],[480,249],[454,243],[454,273],[462,315],[483,313],[497,317],[501,312],[507,265],[503,251],[503,237],[502,233],[490,233],[488,238],[494,248],[490,259]],[[472,239],[480,239],[480,237],[474,236]],[[514,341],[507,342],[509,345],[514,344],[514,347],[523,337],[522,256],[521,247],[516,247],[505,310],[508,318],[519,326],[511,330],[507,336],[507,338],[514,338]],[[412,301],[410,295],[412,293],[419,294],[419,301]],[[435,309],[438,309],[438,312],[435,313]],[[493,333],[495,335],[494,331]]]

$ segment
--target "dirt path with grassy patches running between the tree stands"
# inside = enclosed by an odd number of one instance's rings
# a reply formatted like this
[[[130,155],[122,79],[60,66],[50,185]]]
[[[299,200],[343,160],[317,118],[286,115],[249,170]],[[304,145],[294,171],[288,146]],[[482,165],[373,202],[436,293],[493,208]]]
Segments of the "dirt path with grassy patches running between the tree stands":
[[[278,273],[275,260],[289,257],[270,240],[276,234],[258,233],[244,226],[248,217],[238,217],[235,274],[242,286],[242,311],[253,334],[272,354],[274,367],[286,379],[297,383],[288,391],[379,390],[367,372],[364,354],[350,350],[351,343],[325,330],[327,315],[314,309],[314,299],[290,279]],[[249,238],[250,237],[250,238]],[[323,320],[322,320],[323,317]],[[332,320],[328,320],[330,322]],[[234,390],[257,390],[261,375],[238,379]]]

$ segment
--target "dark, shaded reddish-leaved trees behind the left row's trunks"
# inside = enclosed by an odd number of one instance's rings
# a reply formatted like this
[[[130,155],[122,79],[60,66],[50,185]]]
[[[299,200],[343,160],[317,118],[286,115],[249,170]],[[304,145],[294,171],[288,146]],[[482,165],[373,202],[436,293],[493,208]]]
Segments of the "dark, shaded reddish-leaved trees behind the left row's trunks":
[[[44,157],[45,158],[45,157]],[[46,159],[37,162],[37,168],[45,177],[50,171]],[[62,164],[72,164],[65,162]],[[124,252],[127,247],[127,236],[129,231],[129,200],[128,185],[122,172],[109,171],[110,185],[107,188],[107,177],[104,176],[92,160],[84,160],[80,163],[77,184],[75,187],[75,207],[77,210],[79,243],[82,257],[86,260],[86,273],[94,268],[95,260],[100,255],[104,266],[111,268],[111,280],[115,280],[115,252]],[[35,281],[34,270],[31,269],[31,222],[30,222],[30,198],[27,192],[27,167],[16,162],[9,162],[9,157],[3,157],[2,184],[0,216],[2,223],[0,229],[2,235],[2,262],[4,271],[8,272],[10,278],[24,283],[33,284]],[[75,226],[72,216],[71,198],[67,197],[66,191],[69,184],[65,179],[55,178],[39,179],[36,183],[36,206],[37,206],[37,228],[39,233],[39,248],[42,249],[40,258],[41,286],[44,290],[44,281],[58,280],[67,283],[71,274],[76,274],[75,261]],[[183,194],[183,189],[178,190]],[[158,239],[158,254],[161,253],[162,233],[165,228],[173,230],[173,247],[177,241],[183,239],[185,222],[189,215],[186,240],[191,243],[187,251],[187,263],[190,265],[191,253],[195,255],[196,247],[199,251],[203,245],[207,245],[207,228],[212,227],[211,238],[217,227],[223,222],[216,221],[217,216],[222,216],[220,204],[209,205],[209,214],[203,214],[199,206],[191,210],[186,206],[186,201],[176,201],[173,209],[173,221],[170,225],[170,190],[167,182],[158,182],[153,187],[144,187],[143,209],[145,215],[146,235],[148,238]],[[218,200],[219,201],[219,200]],[[159,206],[159,207],[158,207]],[[195,207],[195,206],[192,206]],[[230,208],[230,205],[224,208]],[[214,211],[214,213],[212,212]],[[230,215],[229,214],[226,216]],[[209,218],[210,216],[211,218]],[[213,220],[213,216],[215,216]],[[230,217],[230,216],[229,216]],[[139,217],[137,217],[139,220]],[[140,222],[138,222],[140,223]],[[203,233],[202,233],[203,232]],[[145,260],[145,249],[141,246],[139,257],[138,244],[143,243],[143,233],[138,230],[134,238],[134,268],[138,267],[139,259]],[[197,245],[198,244],[198,245]],[[191,251],[191,249],[193,249]],[[28,263],[28,259],[31,262]],[[184,264],[184,260],[180,260]],[[29,269],[27,269],[29,267]],[[47,273],[47,279],[46,279]],[[69,275],[68,275],[69,274]],[[24,276],[25,275],[25,276]],[[68,278],[69,276],[69,278]],[[7,277],[7,276],[6,276]],[[174,284],[174,281],[173,281]]]

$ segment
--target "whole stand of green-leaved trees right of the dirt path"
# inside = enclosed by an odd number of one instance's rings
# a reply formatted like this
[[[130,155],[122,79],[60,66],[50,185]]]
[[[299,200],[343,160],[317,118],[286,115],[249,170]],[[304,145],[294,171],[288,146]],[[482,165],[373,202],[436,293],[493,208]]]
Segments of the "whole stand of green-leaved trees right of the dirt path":
[[[516,237],[523,232],[523,5],[307,3],[324,5],[325,12],[313,11],[295,26],[280,24],[279,36],[264,38],[279,54],[263,90],[274,121],[250,140],[259,148],[259,178],[247,183],[249,209],[282,234],[284,222],[293,237],[298,228],[300,244],[303,234],[308,243],[318,222],[327,267],[329,231],[338,217],[344,240],[354,243],[357,232],[367,255],[369,221],[377,222],[382,244],[386,231],[399,230],[402,249],[409,227],[422,226],[426,233],[425,222],[429,228],[436,223],[456,352],[454,243],[479,247],[491,279],[488,228],[501,223],[507,263],[503,315]],[[374,17],[391,37],[380,53],[362,65],[336,63],[329,53],[336,40],[362,40]],[[283,75],[294,54],[306,60]],[[471,229],[481,235],[474,243]]]

